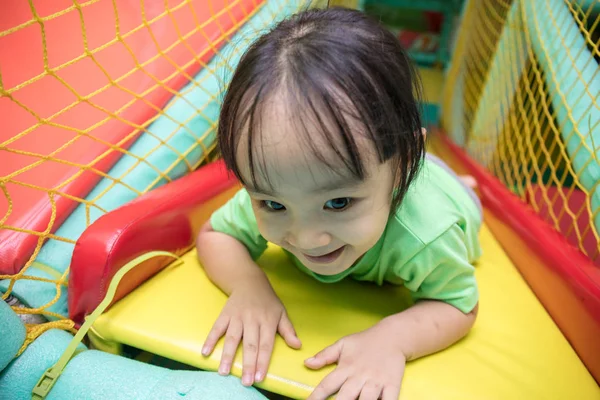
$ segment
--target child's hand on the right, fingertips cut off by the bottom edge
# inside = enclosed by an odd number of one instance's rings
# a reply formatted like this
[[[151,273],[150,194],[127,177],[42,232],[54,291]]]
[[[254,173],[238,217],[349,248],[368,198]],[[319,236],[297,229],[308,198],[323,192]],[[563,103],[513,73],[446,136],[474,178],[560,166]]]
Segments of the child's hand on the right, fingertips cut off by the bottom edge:
[[[346,336],[304,363],[320,369],[337,363],[308,400],[324,400],[338,393],[338,400],[397,400],[406,356],[397,347],[394,331],[378,324]]]

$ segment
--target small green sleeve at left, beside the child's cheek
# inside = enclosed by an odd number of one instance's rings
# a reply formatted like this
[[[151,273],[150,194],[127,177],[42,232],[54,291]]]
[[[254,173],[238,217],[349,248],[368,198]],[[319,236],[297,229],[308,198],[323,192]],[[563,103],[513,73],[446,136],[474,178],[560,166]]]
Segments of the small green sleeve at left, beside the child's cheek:
[[[267,241],[258,231],[250,195],[241,189],[210,217],[212,229],[234,237],[244,244],[253,260],[267,249]]]

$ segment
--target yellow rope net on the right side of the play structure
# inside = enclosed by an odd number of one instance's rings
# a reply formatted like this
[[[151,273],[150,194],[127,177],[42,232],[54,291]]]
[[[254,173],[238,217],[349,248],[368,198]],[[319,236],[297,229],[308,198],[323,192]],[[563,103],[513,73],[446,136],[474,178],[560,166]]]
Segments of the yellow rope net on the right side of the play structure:
[[[600,1],[468,1],[451,138],[600,265]]]

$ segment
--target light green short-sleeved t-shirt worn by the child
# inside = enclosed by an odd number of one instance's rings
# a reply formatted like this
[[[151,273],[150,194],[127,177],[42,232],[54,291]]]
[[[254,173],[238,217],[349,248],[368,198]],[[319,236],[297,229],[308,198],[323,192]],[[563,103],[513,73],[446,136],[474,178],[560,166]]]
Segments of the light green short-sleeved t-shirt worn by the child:
[[[210,221],[215,231],[244,243],[255,260],[267,248],[244,189]],[[321,282],[350,276],[379,285],[404,285],[415,301],[440,300],[468,313],[479,300],[472,263],[481,256],[480,226],[481,210],[462,184],[425,160],[379,241],[352,267],[337,275],[319,275],[288,254],[299,269]]]

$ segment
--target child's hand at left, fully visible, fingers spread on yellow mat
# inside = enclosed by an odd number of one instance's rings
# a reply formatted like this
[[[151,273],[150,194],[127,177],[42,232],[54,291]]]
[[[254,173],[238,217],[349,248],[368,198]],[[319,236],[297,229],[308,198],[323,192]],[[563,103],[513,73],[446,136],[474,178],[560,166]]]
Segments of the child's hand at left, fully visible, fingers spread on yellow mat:
[[[243,338],[242,384],[250,386],[265,378],[277,332],[291,348],[299,349],[302,345],[268,280],[253,279],[231,292],[206,338],[202,354],[210,355],[225,336],[219,374],[227,375]]]

